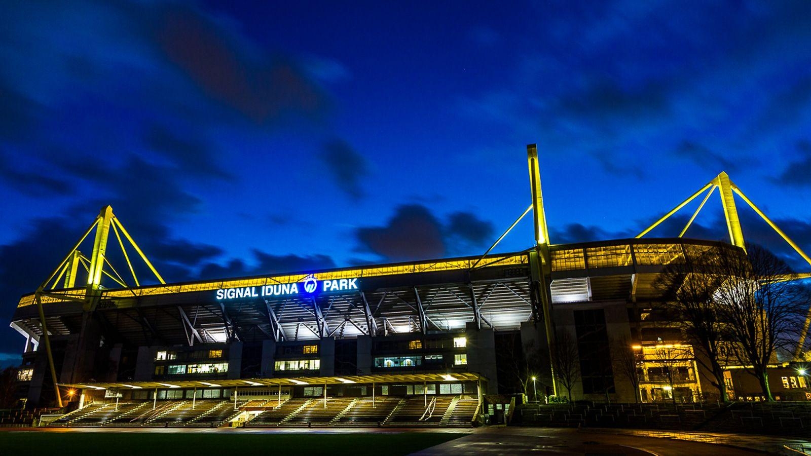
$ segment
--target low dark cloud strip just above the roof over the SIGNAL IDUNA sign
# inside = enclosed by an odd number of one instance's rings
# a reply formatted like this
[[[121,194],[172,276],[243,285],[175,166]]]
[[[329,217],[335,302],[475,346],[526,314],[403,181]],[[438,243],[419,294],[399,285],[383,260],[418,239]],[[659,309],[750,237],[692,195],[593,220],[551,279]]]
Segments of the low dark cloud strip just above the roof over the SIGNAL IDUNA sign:
[[[200,269],[200,278],[218,279],[272,273],[299,273],[335,267],[333,259],[326,255],[271,255],[259,250],[254,250],[253,255],[254,265],[247,265],[247,263],[238,259],[230,260],[225,265],[217,263],[204,265]]]

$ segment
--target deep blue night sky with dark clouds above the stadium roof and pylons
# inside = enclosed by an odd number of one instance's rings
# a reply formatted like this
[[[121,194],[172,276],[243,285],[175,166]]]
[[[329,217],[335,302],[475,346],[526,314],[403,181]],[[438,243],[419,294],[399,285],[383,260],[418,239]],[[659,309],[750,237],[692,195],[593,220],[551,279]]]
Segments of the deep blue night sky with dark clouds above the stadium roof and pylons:
[[[103,204],[168,281],[476,255],[530,203],[529,143],[552,243],[633,236],[726,170],[811,251],[811,2],[11,0],[0,21],[0,364],[19,295]],[[688,236],[723,238],[717,198]],[[532,243],[528,218],[497,251]]]

